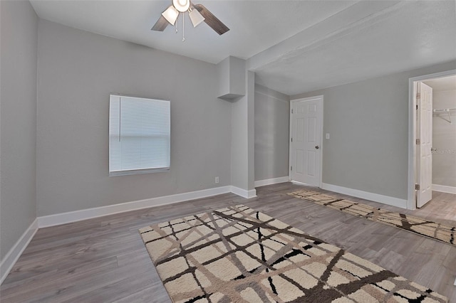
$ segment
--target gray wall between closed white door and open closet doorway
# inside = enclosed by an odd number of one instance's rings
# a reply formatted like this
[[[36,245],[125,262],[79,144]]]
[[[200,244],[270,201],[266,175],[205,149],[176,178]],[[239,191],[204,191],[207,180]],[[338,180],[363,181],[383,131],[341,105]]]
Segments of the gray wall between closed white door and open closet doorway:
[[[456,61],[306,92],[324,96],[323,183],[407,199],[408,79]]]

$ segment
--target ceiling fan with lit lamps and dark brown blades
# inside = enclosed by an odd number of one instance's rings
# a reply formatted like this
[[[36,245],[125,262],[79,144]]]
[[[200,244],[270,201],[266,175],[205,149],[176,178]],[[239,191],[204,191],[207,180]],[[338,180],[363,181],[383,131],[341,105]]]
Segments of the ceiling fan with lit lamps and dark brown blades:
[[[152,31],[164,31],[168,24],[174,25],[180,13],[185,14],[188,11],[190,21],[193,27],[204,21],[219,35],[223,35],[229,28],[222,23],[214,14],[212,14],[202,4],[192,4],[190,0],[172,0],[172,5],[163,11],[162,16],[151,28]],[[182,16],[183,20],[183,16]]]

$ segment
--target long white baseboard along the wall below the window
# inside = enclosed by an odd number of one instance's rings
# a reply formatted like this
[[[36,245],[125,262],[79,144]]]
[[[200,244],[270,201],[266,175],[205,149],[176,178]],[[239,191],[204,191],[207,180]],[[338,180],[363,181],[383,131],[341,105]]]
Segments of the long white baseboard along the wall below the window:
[[[221,195],[222,193],[231,193],[232,186],[221,186],[216,188],[203,189],[202,191],[190,191],[188,193],[177,193],[170,196],[162,196],[139,201],[114,204],[110,206],[101,206],[96,208],[83,209],[81,211],[70,211],[68,213],[57,213],[50,216],[38,217],[38,227],[45,228],[54,225],[61,225],[91,218],[123,213],[125,211],[135,211],[142,208],[153,206],[162,206],[172,203],[178,203],[197,198],[206,198],[209,196]],[[240,195],[239,195],[240,196]]]

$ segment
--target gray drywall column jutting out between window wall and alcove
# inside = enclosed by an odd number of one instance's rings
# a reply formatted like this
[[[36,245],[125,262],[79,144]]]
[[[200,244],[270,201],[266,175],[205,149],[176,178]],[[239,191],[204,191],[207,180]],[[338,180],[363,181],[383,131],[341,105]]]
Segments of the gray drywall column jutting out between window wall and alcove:
[[[232,104],[231,184],[233,192],[253,198],[255,191],[254,166],[254,90],[255,74],[245,71],[246,95]]]

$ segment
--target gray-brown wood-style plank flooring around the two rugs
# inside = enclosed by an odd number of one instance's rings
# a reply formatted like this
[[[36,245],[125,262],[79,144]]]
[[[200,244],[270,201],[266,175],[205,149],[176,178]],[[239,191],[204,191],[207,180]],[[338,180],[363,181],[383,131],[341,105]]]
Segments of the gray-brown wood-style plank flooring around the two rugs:
[[[171,302],[138,228],[242,203],[456,302],[455,246],[286,195],[299,188],[306,186],[275,184],[257,188],[249,200],[226,193],[42,228],[1,285],[0,301]],[[434,192],[418,211],[331,194],[456,225],[456,195],[449,193]]]

